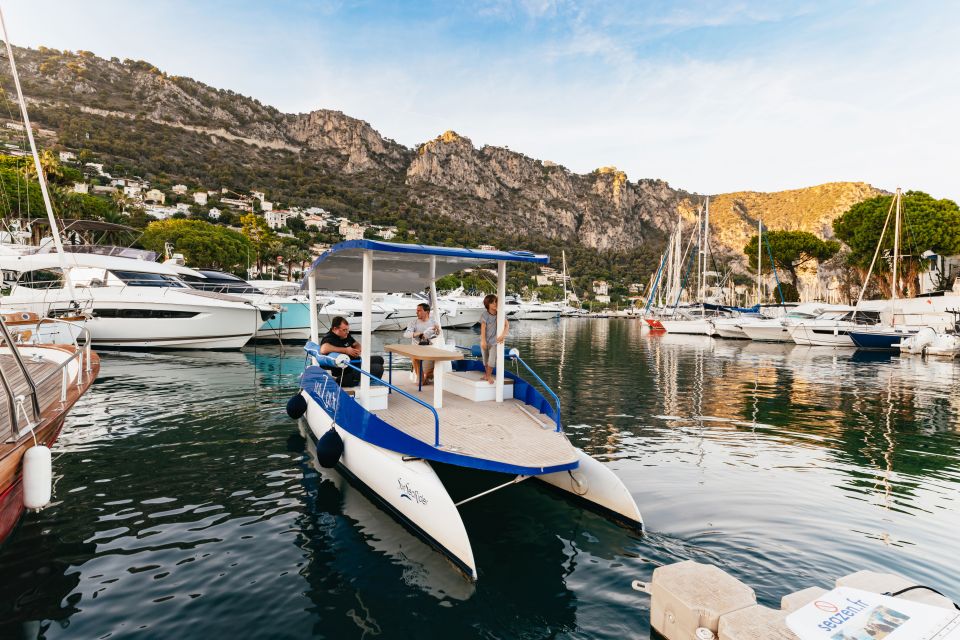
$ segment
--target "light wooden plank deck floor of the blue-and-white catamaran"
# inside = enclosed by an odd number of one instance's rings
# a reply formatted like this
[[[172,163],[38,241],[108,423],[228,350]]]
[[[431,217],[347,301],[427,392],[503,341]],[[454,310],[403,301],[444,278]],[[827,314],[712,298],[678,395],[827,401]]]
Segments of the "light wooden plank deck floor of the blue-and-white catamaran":
[[[400,374],[404,375],[404,374]],[[447,373],[446,375],[455,375]],[[427,404],[433,399],[433,387],[417,391],[409,381],[394,385]],[[525,467],[552,467],[576,461],[573,446],[563,433],[557,433],[556,423],[548,416],[520,400],[473,402],[444,391],[440,415],[440,446],[484,460],[495,460]],[[434,443],[434,421],[425,407],[391,394],[387,409],[376,415],[405,433]]]

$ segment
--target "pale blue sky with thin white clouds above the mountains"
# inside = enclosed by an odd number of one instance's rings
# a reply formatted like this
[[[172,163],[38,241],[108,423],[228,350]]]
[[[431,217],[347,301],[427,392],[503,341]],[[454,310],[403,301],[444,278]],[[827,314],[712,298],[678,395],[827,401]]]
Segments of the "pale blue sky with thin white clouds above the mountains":
[[[447,129],[700,193],[835,180],[960,199],[960,4],[3,4],[15,44],[142,58],[415,146]]]

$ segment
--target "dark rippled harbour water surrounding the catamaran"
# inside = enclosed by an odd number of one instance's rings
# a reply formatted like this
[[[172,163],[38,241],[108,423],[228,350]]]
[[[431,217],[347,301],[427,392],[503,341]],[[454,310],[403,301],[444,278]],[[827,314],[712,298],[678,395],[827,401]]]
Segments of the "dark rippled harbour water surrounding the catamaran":
[[[0,548],[0,637],[645,638],[630,582],[684,559],[773,606],[856,569],[960,599],[960,363],[513,328],[644,535],[520,484],[463,507],[470,585],[311,462],[284,412],[297,349],[104,353],[54,505]]]

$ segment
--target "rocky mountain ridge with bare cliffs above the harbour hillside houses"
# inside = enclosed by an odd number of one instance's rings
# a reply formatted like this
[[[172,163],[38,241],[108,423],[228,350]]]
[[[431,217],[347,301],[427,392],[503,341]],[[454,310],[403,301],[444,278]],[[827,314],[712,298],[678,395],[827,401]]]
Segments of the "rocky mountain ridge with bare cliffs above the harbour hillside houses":
[[[678,213],[691,219],[701,200],[661,180],[631,181],[612,167],[581,175],[509,149],[477,148],[452,131],[408,149],[340,112],[284,114],[144,61],[46,48],[16,55],[34,120],[55,130],[60,145],[139,167],[155,181],[266,189],[274,199],[355,218],[439,216],[600,251],[650,245],[651,254]],[[0,76],[9,97],[5,58]],[[769,228],[829,235],[833,217],[875,193],[835,183],[722,194],[712,198],[713,228],[731,253],[740,252],[761,215]]]

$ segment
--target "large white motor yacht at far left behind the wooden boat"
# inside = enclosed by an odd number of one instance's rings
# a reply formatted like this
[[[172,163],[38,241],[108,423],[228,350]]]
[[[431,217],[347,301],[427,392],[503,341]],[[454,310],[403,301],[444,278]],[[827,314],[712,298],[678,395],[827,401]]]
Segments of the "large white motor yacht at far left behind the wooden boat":
[[[61,264],[66,264],[64,272]],[[4,307],[89,314],[97,347],[239,349],[265,318],[252,303],[188,287],[170,266],[87,253],[0,256]]]

